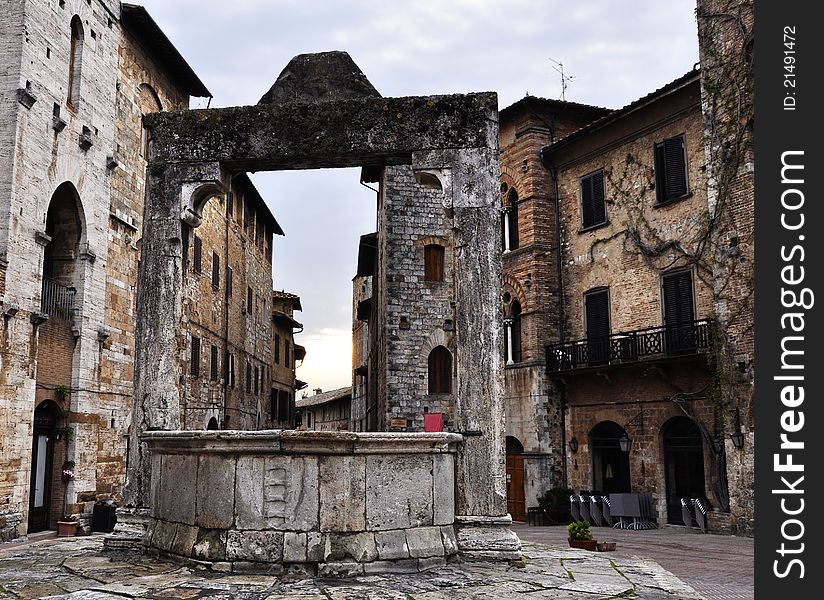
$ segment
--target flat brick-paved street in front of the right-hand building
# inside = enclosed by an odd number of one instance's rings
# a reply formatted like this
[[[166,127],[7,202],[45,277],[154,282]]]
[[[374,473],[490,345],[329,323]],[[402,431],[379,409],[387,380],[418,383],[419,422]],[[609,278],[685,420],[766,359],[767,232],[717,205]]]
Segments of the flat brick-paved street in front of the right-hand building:
[[[566,544],[563,526],[515,524],[512,529],[525,542]],[[639,555],[654,560],[708,600],[752,600],[754,597],[753,538],[706,535],[683,527],[647,531],[593,527],[592,533],[599,541],[617,543],[611,555],[624,559]]]

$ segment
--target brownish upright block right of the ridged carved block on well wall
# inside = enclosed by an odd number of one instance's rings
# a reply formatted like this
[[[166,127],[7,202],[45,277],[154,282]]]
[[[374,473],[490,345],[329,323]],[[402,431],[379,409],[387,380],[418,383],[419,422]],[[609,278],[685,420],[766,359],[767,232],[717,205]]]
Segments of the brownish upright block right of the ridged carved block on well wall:
[[[320,530],[361,531],[366,527],[366,458],[322,456],[318,459]]]

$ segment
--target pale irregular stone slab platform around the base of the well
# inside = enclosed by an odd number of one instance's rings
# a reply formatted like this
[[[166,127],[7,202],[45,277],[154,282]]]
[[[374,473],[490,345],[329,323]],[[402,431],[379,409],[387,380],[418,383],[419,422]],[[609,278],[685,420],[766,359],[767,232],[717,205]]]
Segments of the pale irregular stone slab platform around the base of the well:
[[[472,562],[424,573],[349,580],[296,574],[193,571],[137,553],[103,552],[103,536],[52,538],[0,546],[0,598],[114,600],[699,600],[693,589],[651,560],[525,543],[524,565]]]

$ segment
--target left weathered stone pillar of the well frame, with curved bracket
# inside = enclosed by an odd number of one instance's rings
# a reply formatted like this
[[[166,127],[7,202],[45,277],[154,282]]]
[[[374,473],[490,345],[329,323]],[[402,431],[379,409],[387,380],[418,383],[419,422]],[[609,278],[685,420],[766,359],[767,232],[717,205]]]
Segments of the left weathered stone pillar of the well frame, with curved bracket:
[[[135,332],[135,391],[129,430],[124,500],[146,508],[151,468],[140,436],[180,428],[180,365],[186,340],[180,332],[186,229],[201,222],[201,209],[222,193],[218,163],[150,163],[146,174]],[[151,374],[151,376],[147,376]]]

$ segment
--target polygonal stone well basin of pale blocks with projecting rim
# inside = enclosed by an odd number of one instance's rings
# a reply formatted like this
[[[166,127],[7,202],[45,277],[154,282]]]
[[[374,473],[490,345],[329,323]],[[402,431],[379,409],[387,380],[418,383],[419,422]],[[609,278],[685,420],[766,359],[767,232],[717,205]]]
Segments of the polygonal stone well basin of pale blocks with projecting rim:
[[[225,571],[418,571],[458,552],[454,433],[154,431],[152,552]]]

